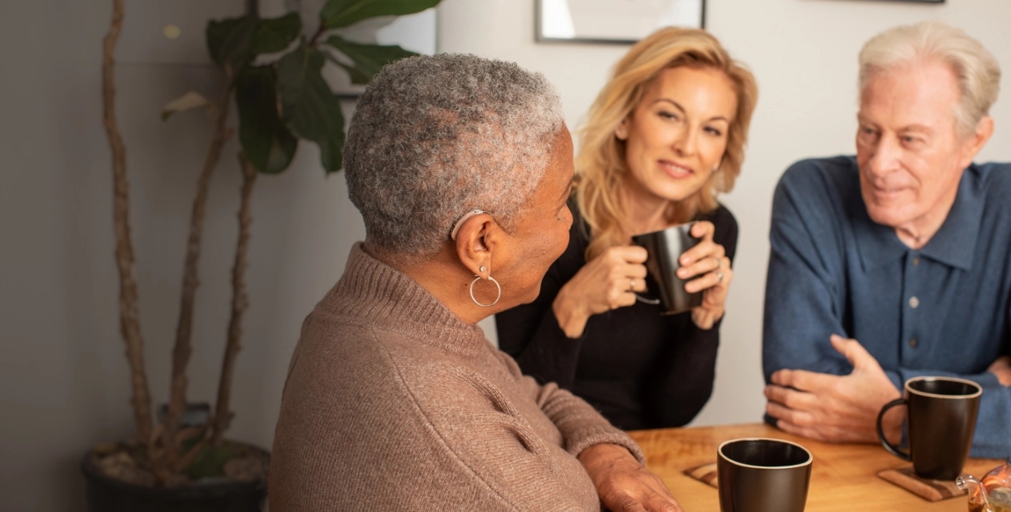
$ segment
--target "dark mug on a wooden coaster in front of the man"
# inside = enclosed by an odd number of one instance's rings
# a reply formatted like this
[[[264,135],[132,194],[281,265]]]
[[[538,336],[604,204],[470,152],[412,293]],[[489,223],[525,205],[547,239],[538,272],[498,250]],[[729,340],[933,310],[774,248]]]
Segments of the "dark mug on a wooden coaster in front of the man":
[[[893,400],[878,414],[878,438],[893,455],[913,463],[916,475],[954,480],[969,458],[983,388],[953,377],[916,377],[906,381],[906,396]],[[906,405],[909,452],[885,438],[882,420],[889,409]]]

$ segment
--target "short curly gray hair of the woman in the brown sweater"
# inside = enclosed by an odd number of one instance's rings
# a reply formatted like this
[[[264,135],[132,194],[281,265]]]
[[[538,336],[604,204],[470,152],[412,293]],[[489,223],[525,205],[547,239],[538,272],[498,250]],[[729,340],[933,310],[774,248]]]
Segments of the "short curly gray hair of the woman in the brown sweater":
[[[510,229],[563,123],[547,79],[513,63],[443,54],[386,66],[358,98],[344,145],[366,242],[426,261],[474,208]]]

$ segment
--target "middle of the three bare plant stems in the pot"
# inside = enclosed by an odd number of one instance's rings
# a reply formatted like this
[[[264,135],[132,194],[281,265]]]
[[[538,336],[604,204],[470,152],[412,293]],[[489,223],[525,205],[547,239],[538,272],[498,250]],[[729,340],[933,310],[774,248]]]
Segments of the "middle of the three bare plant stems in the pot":
[[[203,237],[203,218],[207,203],[207,189],[210,186],[210,175],[213,174],[217,161],[221,158],[221,147],[232,136],[232,130],[224,123],[228,117],[228,99],[232,93],[232,73],[227,72],[227,84],[224,93],[217,104],[217,119],[214,123],[214,133],[211,136],[210,147],[203,161],[203,169],[196,185],[196,197],[193,199],[193,210],[190,213],[189,238],[186,243],[186,263],[183,268],[183,293],[179,308],[179,323],[176,325],[176,343],[172,348],[172,382],[169,390],[169,407],[165,415],[165,432],[162,435],[166,447],[166,463],[175,467],[179,458],[179,442],[176,434],[179,421],[186,410],[186,366],[189,364],[193,346],[190,341],[193,332],[193,308],[196,302],[196,289],[200,286],[197,275],[200,262],[200,242]]]

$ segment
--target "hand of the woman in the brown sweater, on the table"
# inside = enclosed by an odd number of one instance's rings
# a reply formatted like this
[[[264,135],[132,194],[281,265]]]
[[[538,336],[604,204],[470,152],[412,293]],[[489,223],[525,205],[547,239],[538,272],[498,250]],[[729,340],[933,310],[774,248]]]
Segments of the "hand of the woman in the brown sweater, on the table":
[[[579,453],[601,501],[613,512],[683,512],[667,487],[618,444],[594,444]]]

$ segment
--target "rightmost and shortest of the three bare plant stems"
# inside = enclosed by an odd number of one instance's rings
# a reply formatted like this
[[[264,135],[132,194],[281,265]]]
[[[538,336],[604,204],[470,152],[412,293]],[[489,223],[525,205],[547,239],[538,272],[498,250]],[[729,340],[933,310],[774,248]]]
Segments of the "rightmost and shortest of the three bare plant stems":
[[[224,345],[221,379],[217,384],[217,403],[212,420],[214,431],[211,435],[211,442],[215,445],[220,442],[221,436],[228,429],[234,416],[228,410],[232,399],[232,378],[235,374],[236,357],[239,355],[239,350],[242,349],[243,313],[249,307],[246,296],[246,268],[249,263],[246,254],[249,252],[250,224],[253,222],[250,217],[250,202],[253,197],[253,185],[256,183],[257,173],[242,151],[239,152],[239,167],[243,173],[242,196],[239,204],[239,241],[236,244],[236,263],[232,267],[232,317],[228,319],[228,339]]]

